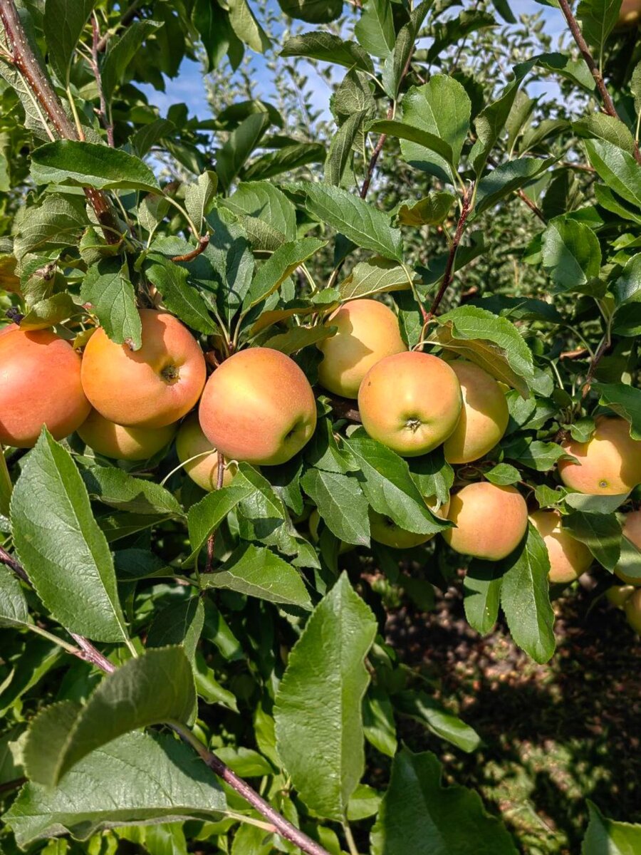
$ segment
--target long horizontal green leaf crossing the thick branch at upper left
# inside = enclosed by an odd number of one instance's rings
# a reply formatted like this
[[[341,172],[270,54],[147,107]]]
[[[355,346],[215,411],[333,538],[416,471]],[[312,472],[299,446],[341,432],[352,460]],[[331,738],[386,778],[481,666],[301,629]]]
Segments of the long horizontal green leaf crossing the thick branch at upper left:
[[[36,184],[160,191],[156,176],[146,163],[109,145],[57,139],[32,151],[31,164]]]

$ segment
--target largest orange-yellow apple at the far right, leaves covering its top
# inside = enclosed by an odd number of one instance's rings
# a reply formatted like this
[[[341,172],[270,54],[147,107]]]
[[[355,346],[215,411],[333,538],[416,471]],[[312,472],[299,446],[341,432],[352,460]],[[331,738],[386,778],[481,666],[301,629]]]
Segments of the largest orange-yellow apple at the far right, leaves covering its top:
[[[565,486],[590,496],[618,496],[641,483],[641,441],[632,439],[625,419],[598,416],[596,430],[587,442],[569,439],[567,454],[576,457],[559,461]]]

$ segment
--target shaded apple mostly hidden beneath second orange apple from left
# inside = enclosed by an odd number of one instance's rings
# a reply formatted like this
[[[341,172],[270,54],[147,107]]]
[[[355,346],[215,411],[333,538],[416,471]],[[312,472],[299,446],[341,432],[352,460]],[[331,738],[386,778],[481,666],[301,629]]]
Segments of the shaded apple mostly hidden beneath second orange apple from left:
[[[91,410],[88,418],[76,433],[97,454],[115,460],[149,460],[172,441],[178,425],[165,428],[126,428],[109,422],[97,410]]]

